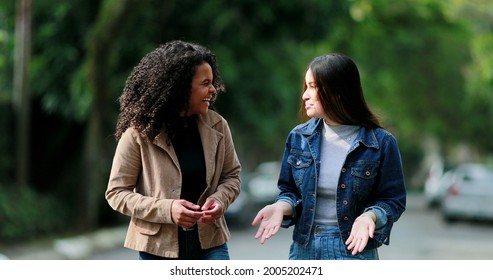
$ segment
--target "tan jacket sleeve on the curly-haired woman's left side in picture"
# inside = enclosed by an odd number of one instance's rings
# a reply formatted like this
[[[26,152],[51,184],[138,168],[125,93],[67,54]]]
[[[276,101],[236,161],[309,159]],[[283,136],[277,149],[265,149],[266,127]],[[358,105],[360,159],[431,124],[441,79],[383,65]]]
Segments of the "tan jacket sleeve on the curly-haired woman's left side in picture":
[[[172,199],[143,196],[135,192],[142,169],[142,141],[133,129],[123,133],[118,141],[105,192],[106,200],[111,208],[124,215],[153,223],[173,223]]]

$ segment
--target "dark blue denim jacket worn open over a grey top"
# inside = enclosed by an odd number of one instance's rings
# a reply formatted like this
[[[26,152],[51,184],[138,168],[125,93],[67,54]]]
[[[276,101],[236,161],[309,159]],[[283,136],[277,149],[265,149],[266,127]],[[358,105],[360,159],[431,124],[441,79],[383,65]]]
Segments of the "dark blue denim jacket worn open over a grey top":
[[[293,240],[304,245],[314,227],[322,128],[323,120],[313,118],[289,133],[278,181],[280,194],[276,201],[293,207],[292,216],[285,217],[282,226],[295,225]],[[366,249],[389,244],[392,226],[406,208],[406,188],[397,140],[388,131],[361,127],[341,169],[336,205],[344,242],[359,215],[378,209],[377,220],[380,213],[386,222],[368,240]]]

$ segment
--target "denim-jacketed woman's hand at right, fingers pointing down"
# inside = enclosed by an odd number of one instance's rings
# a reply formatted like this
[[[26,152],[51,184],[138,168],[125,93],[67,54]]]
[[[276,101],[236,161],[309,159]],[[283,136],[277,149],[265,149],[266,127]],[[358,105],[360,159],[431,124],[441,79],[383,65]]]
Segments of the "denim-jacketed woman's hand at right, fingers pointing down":
[[[352,251],[353,255],[363,252],[366,244],[368,244],[368,239],[373,238],[376,220],[375,213],[368,211],[354,221],[351,234],[346,241],[347,249]]]

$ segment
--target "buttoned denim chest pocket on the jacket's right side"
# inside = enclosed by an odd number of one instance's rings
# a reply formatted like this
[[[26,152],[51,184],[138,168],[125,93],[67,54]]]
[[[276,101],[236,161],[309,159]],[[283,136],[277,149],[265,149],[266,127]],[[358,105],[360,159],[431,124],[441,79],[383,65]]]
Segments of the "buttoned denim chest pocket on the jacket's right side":
[[[367,196],[372,190],[378,175],[378,162],[356,163],[351,167],[353,191],[357,195]]]

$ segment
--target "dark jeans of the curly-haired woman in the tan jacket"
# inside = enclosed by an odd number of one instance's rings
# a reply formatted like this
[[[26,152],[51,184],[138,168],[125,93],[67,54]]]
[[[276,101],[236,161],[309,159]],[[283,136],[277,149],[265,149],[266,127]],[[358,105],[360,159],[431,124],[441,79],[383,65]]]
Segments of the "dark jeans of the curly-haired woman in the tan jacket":
[[[165,258],[139,252],[140,260],[229,260],[228,245],[205,249],[200,248],[199,233],[197,229],[184,231],[178,230],[179,253],[178,258]]]

